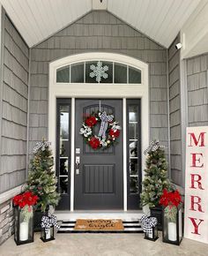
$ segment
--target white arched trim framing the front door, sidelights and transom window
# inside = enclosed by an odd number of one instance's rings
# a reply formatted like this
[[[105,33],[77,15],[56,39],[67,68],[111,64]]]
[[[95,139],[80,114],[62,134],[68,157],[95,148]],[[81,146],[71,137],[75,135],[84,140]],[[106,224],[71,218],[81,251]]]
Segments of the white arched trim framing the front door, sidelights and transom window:
[[[56,83],[56,70],[68,64],[91,61],[112,61],[133,66],[142,72],[141,84],[68,84]],[[49,92],[48,92],[48,140],[51,141],[53,156],[56,157],[56,98],[71,98],[72,115],[75,116],[76,98],[106,98],[123,99],[123,108],[126,108],[126,99],[141,99],[141,152],[142,152],[142,177],[144,177],[146,147],[149,146],[150,125],[149,125],[149,83],[148,64],[136,58],[105,52],[91,52],[72,56],[66,56],[49,64]],[[124,109],[123,112],[125,112]],[[71,119],[72,120],[72,119]],[[123,118],[125,121],[125,117]],[[123,121],[123,122],[124,122]],[[71,211],[74,210],[74,125],[71,123]],[[124,127],[124,124],[123,124]],[[125,129],[124,129],[125,131]],[[123,132],[124,132],[123,131]],[[123,156],[126,156],[126,147],[123,139]],[[126,157],[123,161],[123,210],[127,210],[127,169]],[[56,167],[55,167],[56,168]]]

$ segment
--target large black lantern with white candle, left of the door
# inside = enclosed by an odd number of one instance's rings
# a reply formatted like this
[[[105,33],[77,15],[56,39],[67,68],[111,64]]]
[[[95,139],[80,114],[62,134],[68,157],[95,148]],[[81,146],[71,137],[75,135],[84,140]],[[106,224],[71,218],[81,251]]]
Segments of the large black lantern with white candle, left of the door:
[[[33,242],[33,207],[14,207],[14,241],[17,245]]]

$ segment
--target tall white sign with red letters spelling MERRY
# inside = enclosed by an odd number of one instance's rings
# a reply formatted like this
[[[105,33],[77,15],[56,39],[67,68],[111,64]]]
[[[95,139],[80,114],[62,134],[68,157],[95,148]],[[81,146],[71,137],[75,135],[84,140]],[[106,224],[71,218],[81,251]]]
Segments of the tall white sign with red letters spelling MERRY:
[[[187,128],[184,201],[184,237],[208,244],[208,126]]]

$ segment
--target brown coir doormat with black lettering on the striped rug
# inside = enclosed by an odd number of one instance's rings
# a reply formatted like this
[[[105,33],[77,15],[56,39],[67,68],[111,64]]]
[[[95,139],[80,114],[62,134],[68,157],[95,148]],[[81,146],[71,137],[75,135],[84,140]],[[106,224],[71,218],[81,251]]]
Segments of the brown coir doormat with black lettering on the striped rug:
[[[124,230],[122,220],[78,219],[74,230]]]

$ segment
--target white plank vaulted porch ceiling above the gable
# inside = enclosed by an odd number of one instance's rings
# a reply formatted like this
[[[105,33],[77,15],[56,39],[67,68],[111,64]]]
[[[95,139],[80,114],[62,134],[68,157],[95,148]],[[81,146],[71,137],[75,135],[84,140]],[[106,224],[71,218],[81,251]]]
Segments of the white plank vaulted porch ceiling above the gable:
[[[29,47],[93,10],[100,0],[0,0]],[[107,10],[169,47],[201,0],[103,0]],[[105,3],[107,2],[107,3]]]

